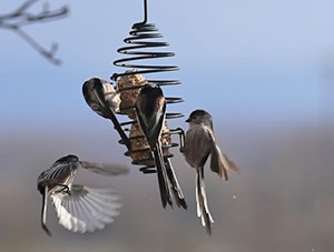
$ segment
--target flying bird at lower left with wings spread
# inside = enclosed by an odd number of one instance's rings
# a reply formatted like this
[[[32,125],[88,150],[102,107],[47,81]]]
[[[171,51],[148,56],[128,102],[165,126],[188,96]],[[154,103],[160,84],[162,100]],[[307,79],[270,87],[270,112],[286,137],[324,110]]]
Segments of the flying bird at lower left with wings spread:
[[[72,232],[85,233],[104,229],[119,214],[119,196],[111,189],[72,184],[79,168],[102,175],[128,172],[128,169],[120,165],[79,161],[72,154],[58,159],[37,180],[38,191],[42,194],[41,225],[49,235],[51,233],[46,224],[48,198],[55,205],[59,224]]]

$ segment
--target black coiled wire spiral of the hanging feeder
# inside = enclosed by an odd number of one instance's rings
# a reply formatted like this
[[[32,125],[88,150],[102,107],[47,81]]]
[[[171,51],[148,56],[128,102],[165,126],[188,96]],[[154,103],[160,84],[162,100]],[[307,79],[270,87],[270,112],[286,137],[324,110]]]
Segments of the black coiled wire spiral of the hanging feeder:
[[[146,74],[146,73],[163,73],[163,72],[169,72],[169,71],[177,71],[179,70],[176,65],[155,65],[155,64],[147,64],[143,62],[138,62],[141,60],[151,60],[151,59],[159,59],[159,58],[169,58],[174,57],[174,52],[161,52],[161,51],[146,51],[143,49],[156,49],[156,48],[163,48],[168,47],[169,44],[167,42],[159,42],[159,41],[147,41],[151,39],[158,39],[163,38],[161,33],[158,33],[158,29],[154,23],[147,23],[147,0],[144,1],[144,21],[135,23],[131,28],[132,30],[129,32],[130,37],[124,39],[124,42],[130,46],[121,47],[117,50],[118,53],[130,56],[128,58],[118,59],[114,61],[114,64],[116,67],[122,67],[128,69],[136,69],[136,73],[138,74]],[[111,80],[117,81],[118,78],[124,75],[130,75],[134,74],[134,72],[124,72],[124,73],[114,73],[111,77]],[[181,82],[179,80],[158,80],[158,79],[147,79],[150,83],[156,83],[160,87],[163,85],[175,85],[180,84]],[[139,89],[140,87],[130,87],[130,88],[124,88],[119,89],[118,91],[121,93],[129,89]],[[167,105],[170,103],[179,103],[184,100],[181,98],[176,97],[166,97]],[[167,107],[168,108],[168,107]],[[131,109],[131,108],[127,108]],[[166,119],[176,119],[184,117],[183,113],[166,113]],[[129,131],[129,129],[125,128],[127,125],[131,125],[136,121],[127,121],[121,122],[120,127],[124,129],[124,131]],[[180,129],[169,129],[169,132],[167,134],[180,134]],[[129,140],[135,140],[138,138],[144,137],[134,137],[129,138]],[[120,140],[119,143],[125,144],[125,139]],[[163,149],[169,149],[178,147],[178,143],[173,143],[168,145],[163,145]],[[147,152],[148,149],[139,149],[139,150],[128,150],[125,155],[130,155],[130,152]],[[173,154],[168,153],[165,155],[165,158],[171,158]],[[153,158],[149,158],[147,160],[153,160]],[[146,161],[147,161],[146,160]],[[140,164],[143,165],[145,160],[132,160],[134,164]],[[156,172],[156,169],[154,165],[146,165],[140,168],[140,171],[144,173],[151,173]]]

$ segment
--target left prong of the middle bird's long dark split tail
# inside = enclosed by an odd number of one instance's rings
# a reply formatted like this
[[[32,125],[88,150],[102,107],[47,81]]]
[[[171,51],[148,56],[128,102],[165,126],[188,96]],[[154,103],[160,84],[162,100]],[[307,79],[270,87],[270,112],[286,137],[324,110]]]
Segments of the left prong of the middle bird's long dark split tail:
[[[169,192],[168,173],[165,167],[163,150],[159,143],[156,144],[153,154],[157,168],[157,175],[158,175],[163,206],[166,208],[167,203],[173,206],[173,201]]]

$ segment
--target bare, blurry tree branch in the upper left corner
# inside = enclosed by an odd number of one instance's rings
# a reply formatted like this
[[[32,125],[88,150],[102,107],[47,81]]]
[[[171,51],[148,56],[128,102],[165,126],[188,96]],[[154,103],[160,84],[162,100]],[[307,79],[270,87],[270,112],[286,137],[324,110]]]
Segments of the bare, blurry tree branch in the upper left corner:
[[[42,10],[38,13],[29,12],[29,8],[39,0],[26,0],[20,7],[9,13],[0,14],[0,29],[9,29],[16,32],[27,43],[29,43],[36,51],[48,59],[53,64],[60,64],[61,61],[55,57],[58,44],[52,43],[51,48],[47,50],[31,36],[23,31],[24,26],[31,26],[40,22],[48,22],[65,18],[69,9],[65,6],[59,9],[51,10],[48,2],[42,4]]]

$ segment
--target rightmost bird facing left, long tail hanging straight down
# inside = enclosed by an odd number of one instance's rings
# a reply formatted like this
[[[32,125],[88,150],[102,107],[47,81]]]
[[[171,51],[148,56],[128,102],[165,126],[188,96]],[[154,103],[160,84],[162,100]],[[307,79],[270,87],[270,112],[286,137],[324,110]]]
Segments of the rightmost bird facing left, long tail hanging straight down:
[[[186,120],[189,129],[186,132],[181,152],[187,163],[196,169],[196,202],[197,216],[202,219],[203,226],[207,233],[212,233],[214,219],[209,212],[204,184],[204,165],[209,157],[210,169],[220,178],[228,180],[227,170],[237,171],[235,163],[222,153],[214,137],[213,117],[205,110],[195,110]]]

